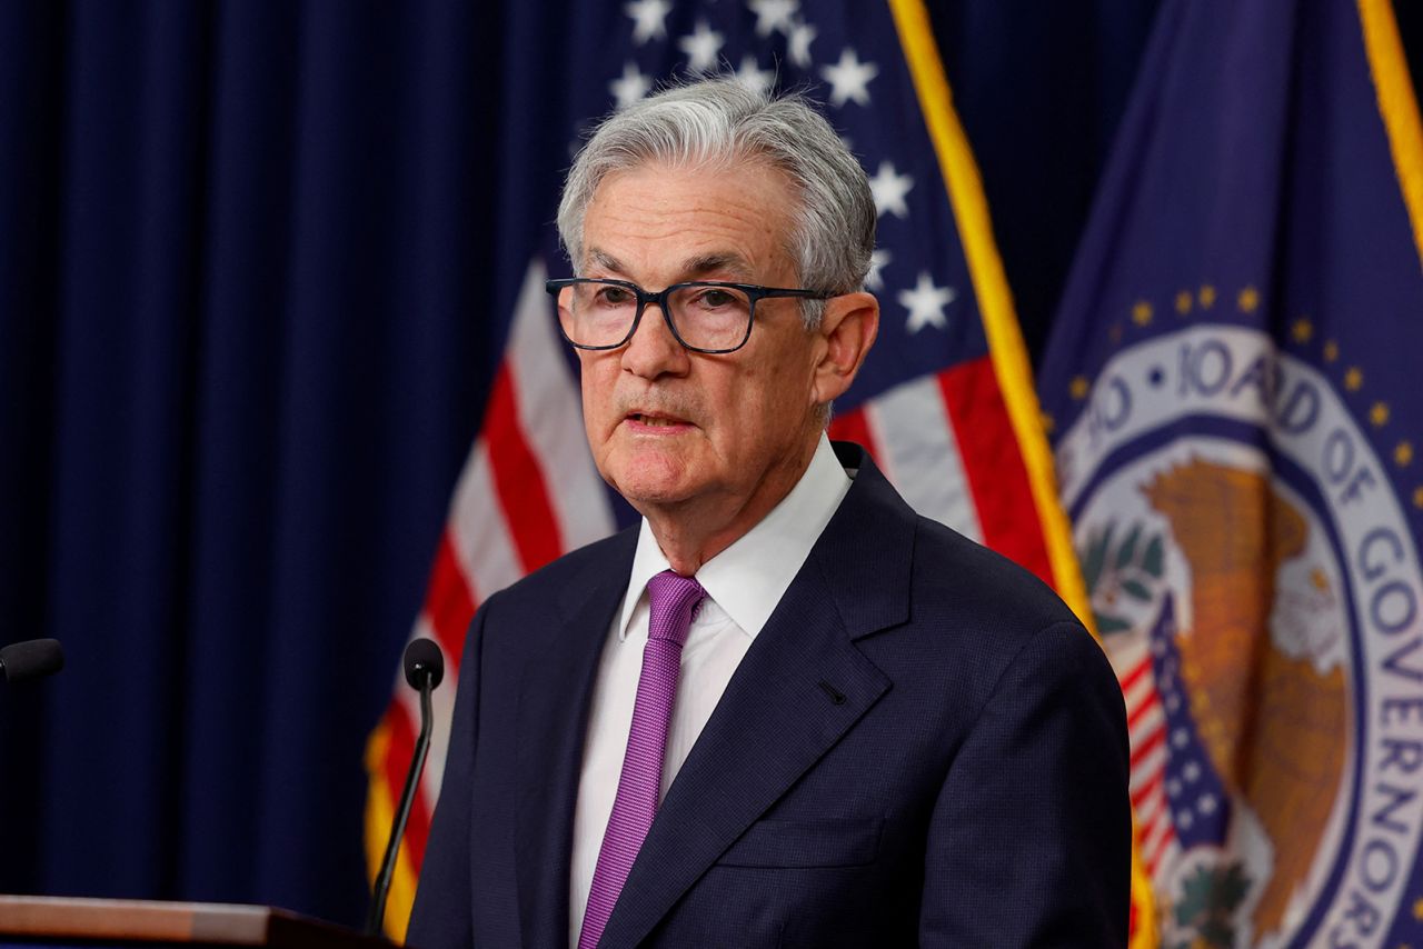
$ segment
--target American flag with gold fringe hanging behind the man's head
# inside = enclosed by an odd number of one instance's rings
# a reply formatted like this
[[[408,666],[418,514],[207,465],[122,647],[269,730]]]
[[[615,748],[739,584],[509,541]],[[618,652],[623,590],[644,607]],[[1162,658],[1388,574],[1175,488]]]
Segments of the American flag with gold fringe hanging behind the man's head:
[[[921,514],[1012,556],[1087,615],[978,171],[922,3],[546,0],[511,16],[545,27],[528,33],[542,37],[538,57],[509,57],[531,73],[508,80],[535,81],[532,71],[544,71],[538,81],[546,83],[554,64],[566,70],[562,101],[541,102],[541,121],[565,117],[571,142],[659,84],[706,74],[730,73],[822,104],[869,174],[879,235],[867,289],[882,306],[879,340],[837,403],[831,435],[869,448]],[[546,24],[561,24],[566,48]],[[527,159],[551,161],[532,147]],[[568,159],[558,154],[552,164]],[[511,166],[529,179],[524,162]],[[548,222],[556,198],[551,189],[512,195],[507,205]],[[508,344],[411,633],[433,636],[451,666],[482,598],[632,522],[589,458],[571,357],[542,292],[546,270],[566,272],[552,228],[535,243],[522,272],[498,275],[521,285]],[[400,676],[393,691],[366,761],[373,866],[418,723]],[[404,935],[440,792],[451,706],[453,690],[437,693],[430,764],[390,896],[396,938]]]

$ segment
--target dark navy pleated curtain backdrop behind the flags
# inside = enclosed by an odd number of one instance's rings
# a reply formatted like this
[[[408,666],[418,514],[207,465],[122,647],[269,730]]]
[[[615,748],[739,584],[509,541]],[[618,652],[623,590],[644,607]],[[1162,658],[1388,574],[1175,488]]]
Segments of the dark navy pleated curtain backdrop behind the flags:
[[[1154,9],[931,4],[1035,349]],[[0,643],[68,654],[0,689],[0,891],[360,921],[361,750],[532,174],[509,10],[0,4]]]

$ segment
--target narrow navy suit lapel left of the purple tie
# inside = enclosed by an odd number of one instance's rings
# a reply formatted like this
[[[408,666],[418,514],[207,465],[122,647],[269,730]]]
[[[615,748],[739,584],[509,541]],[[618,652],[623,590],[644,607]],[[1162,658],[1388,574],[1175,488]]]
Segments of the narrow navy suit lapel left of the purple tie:
[[[558,598],[558,619],[528,629],[518,709],[515,849],[525,946],[568,945],[573,805],[598,662],[622,602],[638,532]],[[612,565],[612,566],[608,566]]]

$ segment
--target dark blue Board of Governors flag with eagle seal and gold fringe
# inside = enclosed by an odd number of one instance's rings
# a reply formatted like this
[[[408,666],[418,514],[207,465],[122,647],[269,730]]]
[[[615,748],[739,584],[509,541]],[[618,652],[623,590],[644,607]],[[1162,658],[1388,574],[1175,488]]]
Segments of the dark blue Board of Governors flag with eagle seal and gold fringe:
[[[1385,0],[1163,4],[1040,394],[1161,945],[1423,945],[1423,135]]]

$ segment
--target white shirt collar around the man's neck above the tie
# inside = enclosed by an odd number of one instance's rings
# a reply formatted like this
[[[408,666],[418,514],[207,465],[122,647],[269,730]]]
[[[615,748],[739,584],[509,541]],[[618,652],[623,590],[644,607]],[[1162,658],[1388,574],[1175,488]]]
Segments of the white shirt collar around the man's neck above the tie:
[[[754,637],[766,626],[847,491],[850,478],[840,467],[830,438],[821,434],[810,465],[791,492],[760,524],[697,571],[697,582],[707,596],[747,636]],[[632,559],[632,576],[628,578],[628,592],[618,619],[619,640],[628,637],[632,615],[647,580],[670,566],[643,518],[638,532],[638,552]]]

